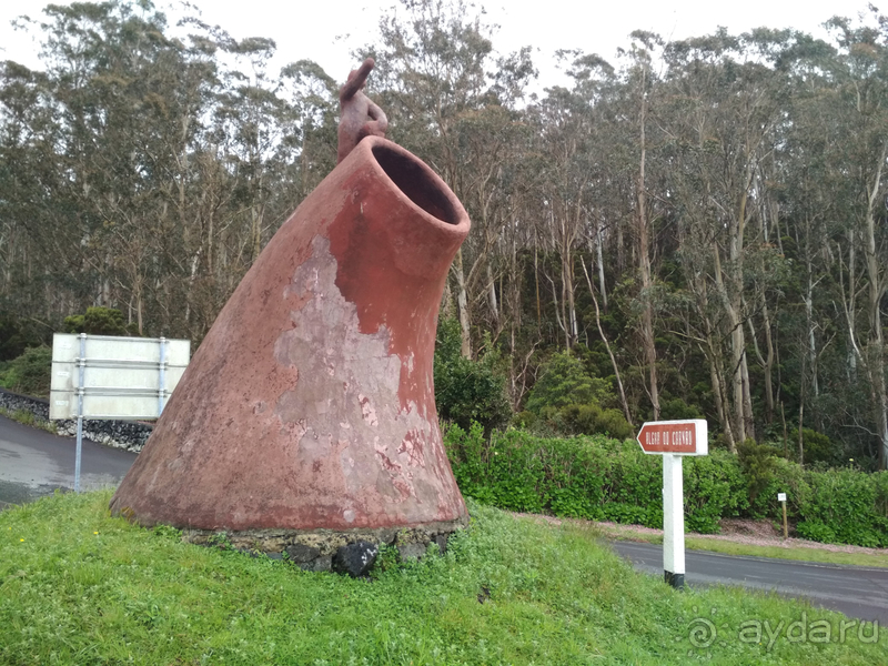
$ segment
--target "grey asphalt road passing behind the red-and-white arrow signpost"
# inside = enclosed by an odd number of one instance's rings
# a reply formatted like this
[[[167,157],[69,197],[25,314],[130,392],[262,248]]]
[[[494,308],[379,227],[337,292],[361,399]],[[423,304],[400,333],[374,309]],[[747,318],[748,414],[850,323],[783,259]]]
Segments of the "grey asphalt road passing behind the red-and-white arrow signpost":
[[[629,559],[636,571],[663,578],[662,545],[635,542],[610,545]],[[774,591],[888,626],[888,568],[739,557],[704,551],[685,551],[685,583],[690,586],[739,585]]]

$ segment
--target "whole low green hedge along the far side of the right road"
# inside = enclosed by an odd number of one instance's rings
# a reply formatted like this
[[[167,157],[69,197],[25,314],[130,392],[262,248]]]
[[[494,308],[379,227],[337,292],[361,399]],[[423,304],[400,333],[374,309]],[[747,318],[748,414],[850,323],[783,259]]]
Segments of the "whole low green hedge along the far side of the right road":
[[[603,435],[541,437],[522,430],[467,432],[451,425],[447,455],[465,495],[501,508],[663,526],[663,464],[635,441]],[[748,468],[748,466],[747,466]],[[774,457],[750,477],[737,456],[715,450],[684,465],[685,524],[713,534],[725,517],[780,519],[777,493],[800,536],[888,546],[888,472],[815,472]],[[750,495],[753,498],[750,500]]]

